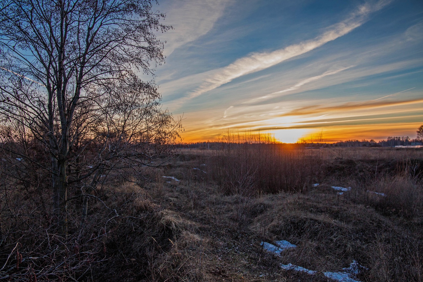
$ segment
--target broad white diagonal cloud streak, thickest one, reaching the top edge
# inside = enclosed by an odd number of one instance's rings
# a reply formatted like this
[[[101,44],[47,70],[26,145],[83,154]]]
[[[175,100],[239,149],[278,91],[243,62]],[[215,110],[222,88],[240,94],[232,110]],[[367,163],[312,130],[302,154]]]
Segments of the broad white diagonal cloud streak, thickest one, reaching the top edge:
[[[225,83],[229,83],[237,77],[241,77],[253,72],[258,72],[271,66],[275,66],[276,64],[279,64],[290,58],[314,50],[317,47],[326,44],[327,42],[333,41],[349,33],[360,25],[363,25],[363,23],[368,19],[369,14],[380,10],[388,3],[390,3],[390,1],[383,0],[375,4],[366,3],[350,14],[347,19],[330,26],[326,32],[322,33],[314,39],[303,41],[299,44],[293,44],[270,53],[253,53],[247,57],[239,58],[232,64],[215,71],[212,75],[207,77],[206,80],[197,89],[181,99],[184,101],[197,97]]]

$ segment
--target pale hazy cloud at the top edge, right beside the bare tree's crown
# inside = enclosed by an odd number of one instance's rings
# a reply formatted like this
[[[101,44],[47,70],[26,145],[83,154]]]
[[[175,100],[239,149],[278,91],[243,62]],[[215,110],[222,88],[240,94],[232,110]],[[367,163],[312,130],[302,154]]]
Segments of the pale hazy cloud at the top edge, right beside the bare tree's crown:
[[[164,55],[208,33],[219,19],[230,0],[171,0],[160,7],[166,12],[164,23],[173,30],[160,35],[166,41]]]

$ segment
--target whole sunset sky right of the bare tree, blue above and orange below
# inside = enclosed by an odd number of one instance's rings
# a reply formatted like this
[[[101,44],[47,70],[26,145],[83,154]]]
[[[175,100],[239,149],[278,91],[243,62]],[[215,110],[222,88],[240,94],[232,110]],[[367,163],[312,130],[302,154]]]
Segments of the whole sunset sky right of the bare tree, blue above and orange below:
[[[423,1],[162,0],[164,108],[184,142],[270,132],[296,142],[416,137]]]

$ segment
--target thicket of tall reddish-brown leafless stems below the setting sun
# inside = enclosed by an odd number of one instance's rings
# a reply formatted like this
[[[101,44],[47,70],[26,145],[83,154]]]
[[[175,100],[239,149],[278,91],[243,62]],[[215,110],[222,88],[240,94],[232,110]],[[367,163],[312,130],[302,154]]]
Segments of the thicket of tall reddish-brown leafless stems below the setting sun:
[[[304,192],[321,166],[319,150],[292,144],[226,144],[207,160],[209,177],[222,191],[239,194]]]

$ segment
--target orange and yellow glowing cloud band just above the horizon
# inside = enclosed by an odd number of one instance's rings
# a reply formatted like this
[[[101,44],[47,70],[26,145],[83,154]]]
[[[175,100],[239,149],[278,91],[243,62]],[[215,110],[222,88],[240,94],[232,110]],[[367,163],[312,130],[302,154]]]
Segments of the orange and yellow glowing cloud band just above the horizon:
[[[265,105],[266,106],[266,105]],[[273,105],[272,105],[273,106]],[[423,99],[378,102],[285,103],[283,110],[273,107],[263,113],[264,106],[230,108],[231,113],[202,111],[184,121],[184,142],[217,141],[228,130],[272,133],[279,141],[295,143],[299,139],[314,140],[322,133],[324,142],[349,139],[386,139],[387,136],[409,136],[423,124]],[[280,107],[282,108],[282,107]],[[223,116],[223,117],[222,117]]]

